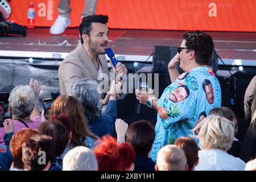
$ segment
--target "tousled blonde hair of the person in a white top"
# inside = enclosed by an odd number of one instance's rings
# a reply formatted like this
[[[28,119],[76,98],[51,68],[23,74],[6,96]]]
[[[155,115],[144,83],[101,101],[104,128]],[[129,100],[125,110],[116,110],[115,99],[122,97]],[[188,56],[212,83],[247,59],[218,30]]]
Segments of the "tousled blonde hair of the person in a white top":
[[[192,131],[200,129],[196,138],[199,138],[201,150],[219,149],[228,151],[233,143],[235,125],[219,115],[209,115],[203,119]]]

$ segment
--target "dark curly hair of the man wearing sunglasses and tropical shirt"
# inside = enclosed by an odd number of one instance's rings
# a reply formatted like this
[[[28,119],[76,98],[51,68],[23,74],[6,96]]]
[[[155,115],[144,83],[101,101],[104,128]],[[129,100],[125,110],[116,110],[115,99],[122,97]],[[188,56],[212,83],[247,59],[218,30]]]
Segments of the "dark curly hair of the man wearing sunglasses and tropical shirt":
[[[195,51],[197,64],[210,65],[210,56],[212,56],[214,50],[213,40],[210,35],[199,30],[187,31],[183,34],[183,39],[186,41],[185,46]]]

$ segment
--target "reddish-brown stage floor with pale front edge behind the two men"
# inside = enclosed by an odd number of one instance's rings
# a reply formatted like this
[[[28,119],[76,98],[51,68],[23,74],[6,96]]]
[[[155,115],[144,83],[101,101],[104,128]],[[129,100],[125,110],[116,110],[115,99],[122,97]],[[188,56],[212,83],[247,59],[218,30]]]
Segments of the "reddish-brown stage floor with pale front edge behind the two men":
[[[180,46],[184,31],[110,30],[109,46],[120,61],[144,62],[153,46]],[[256,33],[208,32],[218,55],[227,65],[256,66]],[[68,28],[63,35],[49,34],[49,28],[27,30],[27,36],[2,36],[0,59],[38,58],[62,60],[80,42],[78,28]],[[152,61],[152,57],[147,60]],[[221,61],[219,61],[221,65]]]

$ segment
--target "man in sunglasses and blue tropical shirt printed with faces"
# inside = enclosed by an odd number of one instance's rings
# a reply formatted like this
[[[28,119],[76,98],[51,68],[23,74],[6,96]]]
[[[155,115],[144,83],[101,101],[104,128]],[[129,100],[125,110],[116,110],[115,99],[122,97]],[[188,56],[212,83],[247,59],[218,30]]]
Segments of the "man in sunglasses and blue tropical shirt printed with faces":
[[[158,99],[154,94],[136,90],[139,102],[158,110],[156,137],[150,152],[154,161],[160,148],[192,134],[202,112],[208,114],[210,109],[221,106],[220,84],[209,67],[213,49],[208,34],[185,32],[177,55],[168,64],[172,84],[164,89],[162,96]],[[176,69],[179,61],[185,71],[181,75]]]

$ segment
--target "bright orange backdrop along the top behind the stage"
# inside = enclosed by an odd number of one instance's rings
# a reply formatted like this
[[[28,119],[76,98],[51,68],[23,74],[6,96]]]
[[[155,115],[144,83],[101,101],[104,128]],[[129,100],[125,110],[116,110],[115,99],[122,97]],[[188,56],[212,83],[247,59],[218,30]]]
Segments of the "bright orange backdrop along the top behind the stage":
[[[59,14],[59,0],[12,0],[10,20],[26,25],[30,2],[36,26],[50,27]],[[84,0],[71,0],[71,7],[70,27],[76,27]],[[254,0],[98,0],[96,14],[107,14],[110,28],[256,32]]]

